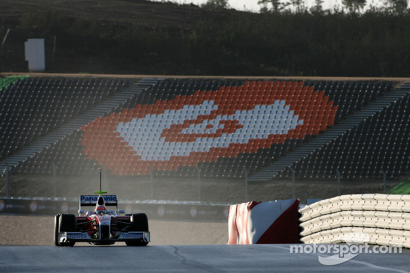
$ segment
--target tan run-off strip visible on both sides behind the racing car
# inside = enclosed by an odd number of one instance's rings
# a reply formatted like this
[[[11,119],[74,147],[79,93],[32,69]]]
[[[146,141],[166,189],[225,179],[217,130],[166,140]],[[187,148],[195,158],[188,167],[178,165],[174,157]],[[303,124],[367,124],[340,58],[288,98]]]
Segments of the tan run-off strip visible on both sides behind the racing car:
[[[151,232],[149,245],[221,245],[228,242],[227,222],[149,220],[149,228]],[[0,246],[51,246],[53,231],[53,216],[0,215]],[[84,245],[88,244],[84,243]],[[2,272],[1,256],[0,272]]]

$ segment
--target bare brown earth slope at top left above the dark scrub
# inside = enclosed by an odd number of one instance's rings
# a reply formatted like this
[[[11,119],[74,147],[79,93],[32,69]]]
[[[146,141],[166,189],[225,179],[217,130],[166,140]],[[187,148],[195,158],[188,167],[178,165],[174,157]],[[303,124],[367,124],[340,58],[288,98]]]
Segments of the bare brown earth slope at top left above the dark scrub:
[[[18,26],[27,13],[52,11],[101,24],[137,24],[156,28],[188,27],[203,19],[224,20],[236,11],[208,10],[196,5],[146,0],[15,0],[0,1],[3,27]]]

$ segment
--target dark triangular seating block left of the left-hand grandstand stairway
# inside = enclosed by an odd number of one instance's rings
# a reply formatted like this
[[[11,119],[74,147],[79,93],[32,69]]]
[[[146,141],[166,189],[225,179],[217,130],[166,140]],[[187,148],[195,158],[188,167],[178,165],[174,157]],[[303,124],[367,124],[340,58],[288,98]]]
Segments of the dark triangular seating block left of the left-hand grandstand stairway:
[[[78,116],[125,82],[107,79],[26,78],[0,92],[0,158]]]

